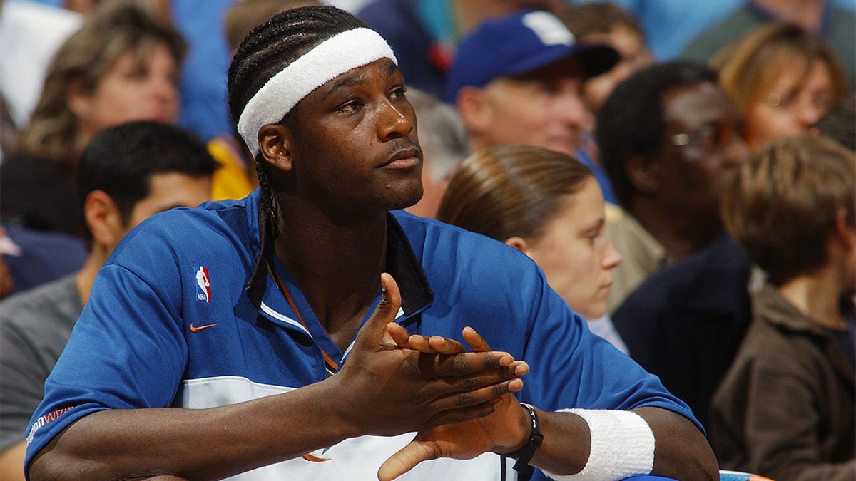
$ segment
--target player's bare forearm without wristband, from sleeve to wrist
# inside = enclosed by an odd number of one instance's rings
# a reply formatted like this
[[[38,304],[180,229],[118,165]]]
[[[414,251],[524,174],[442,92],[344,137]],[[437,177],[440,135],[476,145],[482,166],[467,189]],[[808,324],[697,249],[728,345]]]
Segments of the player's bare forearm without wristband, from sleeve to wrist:
[[[92,413],[42,450],[30,476],[211,479],[288,460],[360,434],[330,379],[224,407]]]

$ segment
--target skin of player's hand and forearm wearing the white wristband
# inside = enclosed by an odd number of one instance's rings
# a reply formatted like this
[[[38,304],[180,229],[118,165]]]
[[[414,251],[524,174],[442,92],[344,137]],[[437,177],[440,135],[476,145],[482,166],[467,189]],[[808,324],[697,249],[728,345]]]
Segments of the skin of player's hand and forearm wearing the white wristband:
[[[389,333],[399,346],[425,353],[464,351],[456,341],[438,336],[410,336],[397,324],[389,325]],[[473,351],[490,351],[487,342],[474,330],[466,328],[463,336]],[[489,451],[497,454],[513,452],[526,443],[530,433],[528,414],[523,413],[521,417],[521,411],[512,395],[504,395],[494,412],[484,418],[420,431],[413,442],[383,463],[378,478],[383,481],[397,478],[424,460],[441,457],[466,460]],[[591,432],[586,421],[572,413],[536,411],[544,443],[535,451],[530,464],[561,475],[580,472],[586,466],[591,448]],[[640,407],[633,409],[633,413],[645,419],[656,439],[651,474],[681,480],[713,481],[719,478],[719,468],[710,445],[688,419],[657,407]],[[524,433],[522,441],[520,432]]]

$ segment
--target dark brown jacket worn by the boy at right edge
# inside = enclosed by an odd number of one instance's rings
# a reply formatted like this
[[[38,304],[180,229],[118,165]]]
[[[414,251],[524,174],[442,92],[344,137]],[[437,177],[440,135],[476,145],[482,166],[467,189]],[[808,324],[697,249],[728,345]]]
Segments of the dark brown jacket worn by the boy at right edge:
[[[853,481],[853,366],[776,288],[752,301],[755,318],[710,412],[720,466],[776,481]]]

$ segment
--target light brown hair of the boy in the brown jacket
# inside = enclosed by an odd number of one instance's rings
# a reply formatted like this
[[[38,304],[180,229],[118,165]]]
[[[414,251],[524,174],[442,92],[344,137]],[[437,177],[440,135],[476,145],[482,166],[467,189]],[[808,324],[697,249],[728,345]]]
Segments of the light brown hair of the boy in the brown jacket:
[[[828,262],[839,212],[856,225],[856,152],[823,135],[775,140],[740,163],[722,193],[722,221],[770,282]]]

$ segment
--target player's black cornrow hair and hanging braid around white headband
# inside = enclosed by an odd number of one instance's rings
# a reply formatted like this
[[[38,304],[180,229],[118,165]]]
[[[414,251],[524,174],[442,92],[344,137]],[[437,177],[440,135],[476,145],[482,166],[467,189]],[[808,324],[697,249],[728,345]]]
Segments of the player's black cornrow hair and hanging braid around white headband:
[[[235,126],[247,103],[271,77],[286,68],[316,45],[337,33],[367,27],[366,23],[345,10],[329,5],[288,9],[270,17],[247,34],[229,66],[229,114]],[[281,122],[294,123],[295,109],[283,112]],[[261,255],[250,279],[250,299],[258,304],[264,294],[270,252],[274,241],[276,212],[273,189],[267,178],[266,165],[259,153],[255,158],[259,175],[259,243]]]

